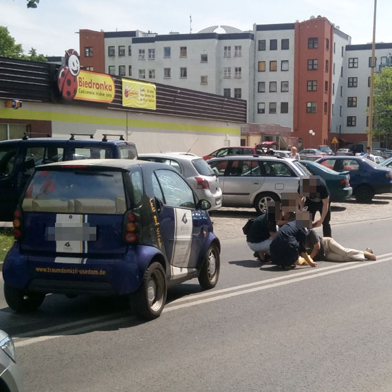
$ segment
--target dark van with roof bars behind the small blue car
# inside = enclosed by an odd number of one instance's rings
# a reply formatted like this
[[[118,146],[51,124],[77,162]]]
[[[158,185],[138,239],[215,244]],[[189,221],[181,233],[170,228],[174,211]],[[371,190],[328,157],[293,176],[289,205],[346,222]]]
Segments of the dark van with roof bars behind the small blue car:
[[[34,167],[90,158],[136,159],[134,143],[120,140],[34,138],[0,142],[0,221],[12,220],[18,199]]]

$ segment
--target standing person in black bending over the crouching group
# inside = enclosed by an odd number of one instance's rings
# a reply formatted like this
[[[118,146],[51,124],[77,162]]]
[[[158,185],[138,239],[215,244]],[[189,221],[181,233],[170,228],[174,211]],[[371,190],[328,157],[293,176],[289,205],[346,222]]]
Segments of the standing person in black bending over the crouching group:
[[[332,237],[332,230],[329,221],[331,220],[331,201],[329,199],[329,190],[323,178],[318,175],[309,175],[301,177],[298,188],[299,204],[301,209],[307,207],[312,219],[316,213],[320,213],[320,219],[313,224],[314,228],[323,225],[323,236]]]

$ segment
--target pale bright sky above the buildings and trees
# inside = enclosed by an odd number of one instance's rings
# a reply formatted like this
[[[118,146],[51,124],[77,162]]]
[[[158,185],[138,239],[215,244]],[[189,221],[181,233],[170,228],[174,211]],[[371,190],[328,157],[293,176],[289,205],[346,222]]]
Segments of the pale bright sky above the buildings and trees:
[[[35,10],[25,0],[0,0],[0,25],[8,27],[25,52],[62,56],[79,49],[78,30],[142,30],[188,33],[212,25],[252,30],[253,23],[294,23],[311,15],[327,17],[349,34],[351,43],[369,43],[373,0],[41,0]],[[376,41],[392,42],[392,1],[378,0]]]

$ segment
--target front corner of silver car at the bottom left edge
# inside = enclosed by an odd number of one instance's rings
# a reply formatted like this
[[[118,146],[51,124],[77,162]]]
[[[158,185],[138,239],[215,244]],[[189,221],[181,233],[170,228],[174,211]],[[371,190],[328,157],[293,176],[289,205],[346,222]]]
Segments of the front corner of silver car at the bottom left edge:
[[[23,391],[21,369],[15,361],[14,342],[0,329],[0,391]]]

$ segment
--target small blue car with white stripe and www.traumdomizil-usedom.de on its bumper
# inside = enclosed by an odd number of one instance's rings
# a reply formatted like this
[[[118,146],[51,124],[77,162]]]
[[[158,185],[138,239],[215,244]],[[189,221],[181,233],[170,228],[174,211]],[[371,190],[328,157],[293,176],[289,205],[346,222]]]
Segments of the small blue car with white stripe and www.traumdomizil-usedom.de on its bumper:
[[[136,314],[160,316],[166,287],[219,277],[219,240],[175,168],[140,160],[78,160],[36,168],[14,214],[3,263],[11,309],[45,294],[129,296]]]

